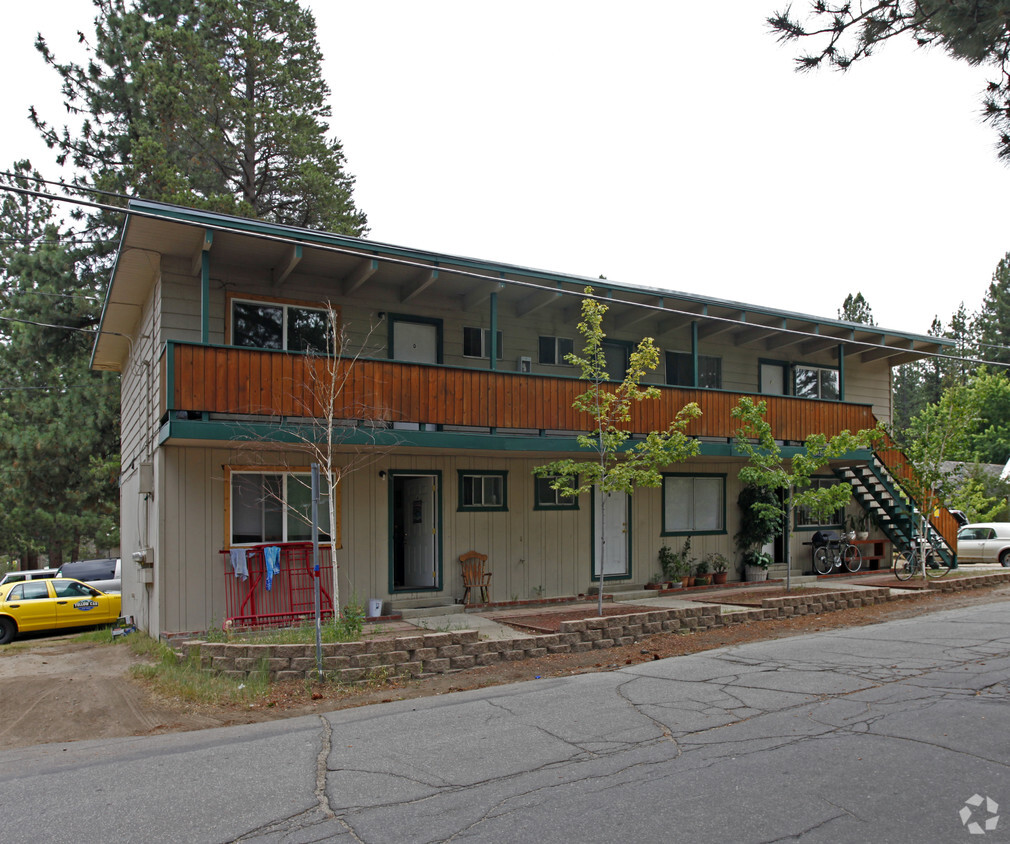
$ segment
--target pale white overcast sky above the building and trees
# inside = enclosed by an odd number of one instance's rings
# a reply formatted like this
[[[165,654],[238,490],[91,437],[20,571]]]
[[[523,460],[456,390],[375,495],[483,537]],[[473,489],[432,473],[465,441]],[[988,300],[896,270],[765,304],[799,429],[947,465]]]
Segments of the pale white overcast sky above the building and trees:
[[[793,70],[782,0],[303,0],[331,128],[387,243],[925,333],[1010,251],[988,73],[911,44]],[[795,2],[799,10],[801,2]],[[0,163],[59,178],[64,110],[32,47],[79,55],[88,0],[5,10]]]

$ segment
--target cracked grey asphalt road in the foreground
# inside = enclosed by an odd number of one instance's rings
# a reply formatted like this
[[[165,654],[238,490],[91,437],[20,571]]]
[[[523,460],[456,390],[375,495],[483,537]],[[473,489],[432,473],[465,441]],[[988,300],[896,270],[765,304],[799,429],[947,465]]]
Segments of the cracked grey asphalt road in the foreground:
[[[1006,841],[1008,674],[1001,603],[322,717],[0,751],[0,839]]]

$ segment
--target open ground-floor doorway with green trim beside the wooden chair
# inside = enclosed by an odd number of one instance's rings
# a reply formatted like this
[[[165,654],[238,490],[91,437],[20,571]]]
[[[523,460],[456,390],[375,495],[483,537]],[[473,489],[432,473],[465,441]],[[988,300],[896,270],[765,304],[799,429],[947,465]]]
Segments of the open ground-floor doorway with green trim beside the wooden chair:
[[[438,585],[438,478],[393,476],[393,589]]]

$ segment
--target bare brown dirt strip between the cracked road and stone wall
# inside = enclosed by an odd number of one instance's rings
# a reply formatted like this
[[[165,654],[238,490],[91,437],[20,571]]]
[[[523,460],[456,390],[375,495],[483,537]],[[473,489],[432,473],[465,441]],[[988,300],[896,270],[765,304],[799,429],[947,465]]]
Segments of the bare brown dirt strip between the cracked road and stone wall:
[[[291,680],[275,683],[269,699],[252,705],[195,706],[155,696],[144,683],[130,677],[130,665],[140,660],[122,643],[94,645],[68,637],[29,639],[0,648],[0,711],[6,714],[0,739],[10,748],[252,724],[518,680],[614,670],[711,648],[875,624],[992,601],[1010,601],[1010,586],[971,593],[927,593],[896,603],[750,622],[701,633],[660,634],[608,650],[551,654],[422,680],[365,687]],[[626,612],[627,607],[620,610]]]

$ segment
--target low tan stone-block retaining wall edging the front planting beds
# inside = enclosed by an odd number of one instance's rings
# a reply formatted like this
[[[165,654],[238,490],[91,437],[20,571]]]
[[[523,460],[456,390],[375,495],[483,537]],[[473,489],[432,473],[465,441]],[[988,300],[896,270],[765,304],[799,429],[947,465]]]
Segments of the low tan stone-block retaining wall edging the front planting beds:
[[[1010,578],[1010,571],[1001,574],[994,576],[1000,581]],[[402,675],[423,677],[548,653],[580,653],[629,645],[654,633],[708,630],[763,619],[829,613],[895,598],[888,589],[846,590],[767,598],[760,609],[729,613],[722,613],[719,607],[699,606],[563,621],[558,633],[526,638],[482,641],[476,630],[460,630],[340,642],[322,646],[323,670],[341,682]],[[276,679],[316,676],[314,644],[255,645],[191,640],[181,643],[178,649],[199,659],[204,669],[227,676],[244,677],[264,668]]]

